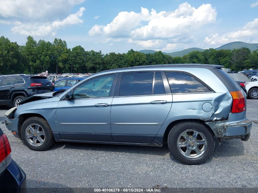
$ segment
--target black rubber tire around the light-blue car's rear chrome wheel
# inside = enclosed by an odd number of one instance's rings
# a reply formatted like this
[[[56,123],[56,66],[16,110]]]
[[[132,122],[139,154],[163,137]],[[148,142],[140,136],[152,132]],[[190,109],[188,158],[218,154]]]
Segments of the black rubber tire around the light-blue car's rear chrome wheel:
[[[206,141],[206,147],[205,147],[205,145],[198,145],[197,146],[198,149],[203,148],[203,150],[204,150],[200,155],[197,155],[197,153],[196,153],[196,156],[198,156],[198,157],[193,157],[193,158],[186,157],[185,155],[183,155],[181,153],[181,151],[177,147],[178,139],[182,140],[182,138],[179,138],[179,136],[184,131],[187,131],[187,130],[197,131],[199,133],[198,138],[200,138],[200,136],[201,136],[200,133],[202,135],[204,135],[205,138],[206,138],[206,140],[205,140]],[[191,133],[191,131],[190,131],[190,133]],[[193,135],[192,135],[192,137],[193,137]],[[190,139],[194,139],[194,138],[190,138]],[[188,140],[185,141],[185,142],[187,143]],[[214,141],[214,138],[213,138],[213,134],[209,130],[208,126],[205,126],[205,125],[203,125],[201,123],[198,123],[198,122],[186,121],[186,122],[182,122],[182,123],[179,123],[179,124],[175,125],[170,130],[169,135],[168,135],[168,146],[169,146],[169,150],[170,150],[171,154],[178,161],[180,161],[184,164],[188,164],[188,165],[195,165],[195,164],[200,164],[200,163],[204,162],[206,159],[208,159],[210,157],[210,155],[213,153],[213,150],[214,150],[214,147],[215,147],[215,141]],[[195,146],[195,144],[194,144],[194,146]],[[180,149],[182,149],[182,148],[180,148]],[[186,147],[185,147],[185,149],[186,149]],[[190,150],[190,153],[192,153],[192,152],[195,152],[195,151]]]

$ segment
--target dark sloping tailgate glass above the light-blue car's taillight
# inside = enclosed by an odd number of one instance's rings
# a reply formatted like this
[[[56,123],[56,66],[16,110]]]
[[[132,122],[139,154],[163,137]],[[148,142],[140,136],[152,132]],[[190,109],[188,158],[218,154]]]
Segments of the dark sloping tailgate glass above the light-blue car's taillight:
[[[240,86],[236,83],[236,81],[224,70],[221,68],[213,68],[210,69],[226,86],[227,90],[230,92],[240,91]]]

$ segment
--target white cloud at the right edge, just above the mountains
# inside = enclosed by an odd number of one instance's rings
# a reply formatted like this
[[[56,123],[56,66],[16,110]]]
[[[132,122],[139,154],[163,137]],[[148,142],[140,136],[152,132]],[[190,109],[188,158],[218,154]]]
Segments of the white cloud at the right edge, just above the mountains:
[[[228,32],[223,35],[210,34],[205,38],[205,42],[210,45],[223,45],[232,41],[244,41],[250,43],[257,42],[258,18],[245,24],[244,27],[237,31]]]

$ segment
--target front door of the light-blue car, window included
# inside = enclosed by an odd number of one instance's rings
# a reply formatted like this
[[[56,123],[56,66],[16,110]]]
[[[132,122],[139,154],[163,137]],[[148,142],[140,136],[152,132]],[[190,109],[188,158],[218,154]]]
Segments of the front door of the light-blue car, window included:
[[[113,141],[110,127],[111,103],[117,74],[93,77],[73,89],[70,100],[60,100],[56,123],[62,139]]]

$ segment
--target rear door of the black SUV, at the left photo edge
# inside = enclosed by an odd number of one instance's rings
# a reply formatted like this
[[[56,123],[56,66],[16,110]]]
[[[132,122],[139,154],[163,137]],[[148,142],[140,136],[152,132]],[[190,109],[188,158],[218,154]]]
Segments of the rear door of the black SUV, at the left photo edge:
[[[12,104],[11,96],[16,89],[16,78],[15,77],[6,77],[3,78],[0,85],[0,104],[8,105]]]

